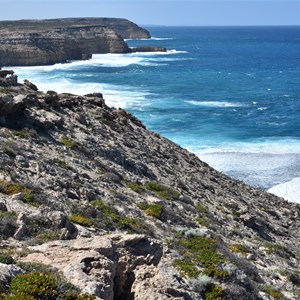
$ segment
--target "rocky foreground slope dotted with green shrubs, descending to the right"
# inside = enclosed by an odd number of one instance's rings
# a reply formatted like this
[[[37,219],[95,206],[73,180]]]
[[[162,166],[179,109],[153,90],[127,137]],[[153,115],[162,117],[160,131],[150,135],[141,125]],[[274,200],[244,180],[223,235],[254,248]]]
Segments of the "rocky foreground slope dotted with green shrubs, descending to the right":
[[[1,84],[0,298],[299,299],[299,205],[100,93]]]

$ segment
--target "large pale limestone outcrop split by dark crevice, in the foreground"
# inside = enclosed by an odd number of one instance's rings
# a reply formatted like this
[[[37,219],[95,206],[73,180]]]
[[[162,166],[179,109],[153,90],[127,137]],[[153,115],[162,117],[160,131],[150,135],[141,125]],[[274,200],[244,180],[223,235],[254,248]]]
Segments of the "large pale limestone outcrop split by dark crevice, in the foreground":
[[[152,266],[159,272],[157,264],[162,257],[158,241],[125,234],[49,242],[31,247],[31,251],[22,260],[51,264],[82,292],[105,300],[129,296],[135,270]]]

